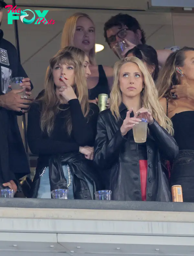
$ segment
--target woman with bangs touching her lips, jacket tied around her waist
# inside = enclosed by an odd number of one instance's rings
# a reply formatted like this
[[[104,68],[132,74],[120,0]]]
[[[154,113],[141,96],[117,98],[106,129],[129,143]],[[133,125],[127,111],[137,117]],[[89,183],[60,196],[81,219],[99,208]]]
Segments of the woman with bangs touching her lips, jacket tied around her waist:
[[[28,113],[27,137],[39,156],[32,197],[51,198],[68,189],[69,199],[93,199],[93,143],[98,107],[88,102],[89,59],[78,48],[66,47],[50,60],[45,93]]]

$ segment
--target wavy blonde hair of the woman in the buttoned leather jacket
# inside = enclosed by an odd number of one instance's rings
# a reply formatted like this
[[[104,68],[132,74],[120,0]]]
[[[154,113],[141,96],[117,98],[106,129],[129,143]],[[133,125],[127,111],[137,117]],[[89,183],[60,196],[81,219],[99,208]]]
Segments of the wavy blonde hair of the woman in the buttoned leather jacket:
[[[120,117],[119,106],[122,102],[122,92],[119,84],[119,76],[121,67],[126,63],[135,63],[144,77],[144,89],[141,92],[140,96],[140,106],[146,109],[150,109],[152,112],[153,118],[168,131],[169,134],[173,134],[173,126],[171,120],[166,116],[163,108],[160,106],[158,101],[158,92],[152,79],[152,76],[149,74],[145,64],[136,57],[124,58],[119,60],[114,65],[114,83],[113,89],[111,91],[111,112],[115,117],[116,121],[118,121]]]

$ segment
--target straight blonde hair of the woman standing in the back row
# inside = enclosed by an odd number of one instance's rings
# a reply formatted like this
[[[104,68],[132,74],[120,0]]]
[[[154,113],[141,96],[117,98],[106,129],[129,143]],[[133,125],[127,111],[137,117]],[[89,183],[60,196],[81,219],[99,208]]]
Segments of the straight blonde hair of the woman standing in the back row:
[[[61,48],[69,46],[69,45],[74,46],[73,38],[74,38],[75,29],[76,29],[76,22],[77,22],[78,18],[80,18],[80,17],[86,17],[92,21],[91,17],[89,15],[87,15],[86,13],[77,12],[77,13],[74,13],[72,16],[70,16],[66,20],[64,28],[63,28],[62,37],[61,37]],[[93,21],[92,21],[92,23],[93,23]],[[92,65],[96,64],[95,45],[89,52],[89,60],[90,60],[90,64],[92,64]]]

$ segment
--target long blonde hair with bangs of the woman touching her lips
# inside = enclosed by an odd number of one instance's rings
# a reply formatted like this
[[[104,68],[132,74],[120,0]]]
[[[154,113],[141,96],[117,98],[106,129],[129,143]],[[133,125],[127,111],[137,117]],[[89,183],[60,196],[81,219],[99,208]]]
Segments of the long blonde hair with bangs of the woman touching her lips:
[[[40,127],[42,132],[47,132],[50,136],[54,128],[54,121],[60,108],[60,101],[56,94],[56,86],[53,79],[53,68],[58,64],[69,64],[73,65],[75,68],[75,93],[81,105],[81,110],[84,117],[87,116],[89,112],[88,103],[88,88],[86,84],[84,62],[85,62],[85,52],[73,46],[68,46],[61,49],[57,54],[50,59],[50,65],[47,69],[46,79],[45,79],[45,93],[38,99],[42,106]],[[72,122],[70,111],[66,114],[67,121],[64,125],[67,127],[68,134],[72,130]]]

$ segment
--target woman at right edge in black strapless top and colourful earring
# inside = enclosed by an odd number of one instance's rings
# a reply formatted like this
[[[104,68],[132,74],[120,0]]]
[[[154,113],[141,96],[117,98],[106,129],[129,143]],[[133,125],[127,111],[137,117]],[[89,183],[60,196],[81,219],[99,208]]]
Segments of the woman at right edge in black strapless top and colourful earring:
[[[182,186],[184,202],[194,202],[194,48],[184,47],[172,53],[156,86],[179,146],[170,184]]]

